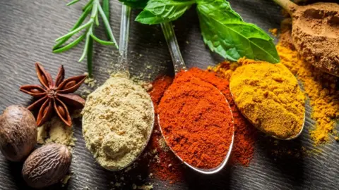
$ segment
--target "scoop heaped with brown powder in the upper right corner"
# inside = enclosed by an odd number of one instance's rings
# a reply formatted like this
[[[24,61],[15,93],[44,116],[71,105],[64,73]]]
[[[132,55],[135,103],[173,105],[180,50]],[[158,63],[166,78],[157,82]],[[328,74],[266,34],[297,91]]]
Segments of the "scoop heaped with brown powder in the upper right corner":
[[[292,39],[297,51],[307,55],[307,61],[316,68],[339,77],[339,29],[335,27],[339,25],[339,4],[297,6],[290,0],[273,1],[292,17]],[[326,11],[331,13],[325,14]],[[319,23],[322,30],[308,23]]]

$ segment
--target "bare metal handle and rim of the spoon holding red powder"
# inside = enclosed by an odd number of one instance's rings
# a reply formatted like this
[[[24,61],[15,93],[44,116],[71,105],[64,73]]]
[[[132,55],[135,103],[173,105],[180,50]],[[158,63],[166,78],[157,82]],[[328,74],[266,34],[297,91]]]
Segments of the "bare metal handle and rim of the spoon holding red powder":
[[[169,53],[171,54],[171,57],[172,57],[172,62],[173,62],[173,66],[174,66],[174,72],[177,74],[177,72],[181,71],[181,70],[187,70],[186,68],[186,65],[184,63],[184,59],[182,58],[182,53],[180,53],[180,50],[179,50],[179,45],[178,45],[178,42],[177,42],[177,38],[175,37],[175,34],[174,34],[174,30],[173,30],[173,25],[172,23],[162,23],[161,24],[161,27],[162,27],[162,32],[164,33],[165,35],[165,39],[166,39],[166,42],[167,42],[167,46],[169,48]],[[216,88],[215,88],[216,89]],[[218,90],[218,89],[217,89]],[[219,90],[218,90],[219,91]],[[220,91],[220,94],[221,91]],[[222,94],[223,96],[223,94]],[[228,103],[227,99],[225,98],[225,101],[227,102],[227,105],[229,106],[230,108],[230,104]],[[230,113],[232,114],[232,110],[230,108]],[[160,126],[160,132],[162,134],[162,137],[164,137],[165,141],[166,141],[166,144],[167,143],[167,140],[162,132],[162,127],[160,125],[160,120],[161,118],[159,117],[159,115],[157,115],[157,120],[159,122],[159,126]],[[232,120],[233,120],[233,115],[232,115]],[[233,125],[234,127],[234,125]],[[191,169],[195,170],[196,172],[200,172],[202,174],[206,174],[206,175],[209,175],[209,174],[214,174],[216,172],[219,172],[220,170],[222,170],[223,167],[225,167],[228,159],[230,158],[230,155],[231,155],[231,151],[232,151],[232,146],[233,146],[233,141],[234,141],[234,128],[233,128],[233,134],[232,134],[232,141],[231,141],[231,144],[230,144],[230,147],[228,148],[228,152],[226,153],[225,155],[225,158],[224,160],[222,160],[222,163],[220,163],[220,165],[218,165],[217,167],[215,168],[211,168],[211,169],[201,169],[201,168],[198,168],[198,167],[194,167],[192,165],[190,165],[189,163],[186,163],[184,160],[182,160],[182,158],[180,158],[180,156],[178,156],[175,151],[172,150],[172,148],[169,146],[169,149],[174,153],[175,156],[177,156],[177,158],[179,158],[179,160],[181,160],[185,165],[187,165],[188,167],[191,167]]]

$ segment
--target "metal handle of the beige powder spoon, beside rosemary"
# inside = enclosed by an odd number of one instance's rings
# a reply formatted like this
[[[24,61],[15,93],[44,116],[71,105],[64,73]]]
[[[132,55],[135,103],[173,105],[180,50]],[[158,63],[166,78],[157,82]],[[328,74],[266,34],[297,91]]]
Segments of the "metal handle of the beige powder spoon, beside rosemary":
[[[127,60],[127,50],[129,48],[129,23],[131,22],[131,7],[122,5],[120,37],[119,37],[119,60],[121,72],[129,72],[129,64]]]

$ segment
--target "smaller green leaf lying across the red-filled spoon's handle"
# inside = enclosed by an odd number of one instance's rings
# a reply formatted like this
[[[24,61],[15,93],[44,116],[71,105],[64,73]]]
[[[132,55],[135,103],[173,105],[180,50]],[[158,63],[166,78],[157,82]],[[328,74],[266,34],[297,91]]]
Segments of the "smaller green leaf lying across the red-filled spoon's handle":
[[[195,2],[195,0],[150,0],[143,11],[136,17],[136,21],[155,25],[177,20]]]

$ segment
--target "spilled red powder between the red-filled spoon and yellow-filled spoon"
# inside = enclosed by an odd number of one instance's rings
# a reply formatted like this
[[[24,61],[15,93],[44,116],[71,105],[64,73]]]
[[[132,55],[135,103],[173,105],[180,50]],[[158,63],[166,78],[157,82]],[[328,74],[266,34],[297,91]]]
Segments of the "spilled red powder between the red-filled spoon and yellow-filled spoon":
[[[222,68],[228,70],[229,64],[223,64]],[[231,164],[242,164],[248,166],[254,156],[254,142],[256,137],[256,129],[247,122],[247,120],[239,112],[237,106],[232,99],[230,93],[230,82],[218,76],[215,72],[209,72],[206,70],[200,70],[198,68],[191,68],[189,70],[195,77],[200,78],[203,81],[213,84],[219,89],[226,97],[228,103],[230,103],[233,118],[234,118],[234,143],[232,148],[232,155],[230,158]]]

